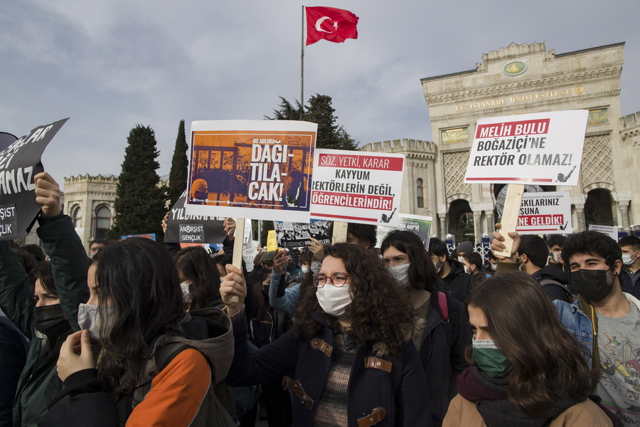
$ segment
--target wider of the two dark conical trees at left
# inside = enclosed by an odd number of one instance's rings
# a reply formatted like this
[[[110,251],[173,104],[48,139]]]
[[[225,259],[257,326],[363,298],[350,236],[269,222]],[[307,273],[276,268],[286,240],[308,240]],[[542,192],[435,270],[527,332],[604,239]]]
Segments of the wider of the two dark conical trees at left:
[[[127,234],[156,233],[160,235],[161,221],[166,213],[166,194],[158,186],[160,178],[156,160],[156,137],[151,127],[136,125],[127,138],[122,172],[118,177],[114,202],[115,221],[107,231],[107,238]]]

